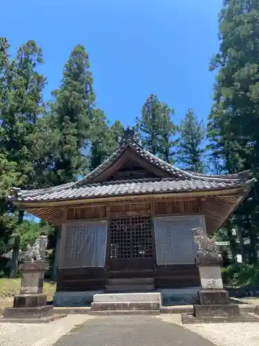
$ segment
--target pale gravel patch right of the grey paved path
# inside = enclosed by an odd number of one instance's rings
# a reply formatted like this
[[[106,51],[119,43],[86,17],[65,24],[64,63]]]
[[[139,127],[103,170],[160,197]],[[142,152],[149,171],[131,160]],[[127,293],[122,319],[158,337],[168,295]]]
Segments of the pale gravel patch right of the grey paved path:
[[[180,315],[159,316],[166,322],[182,325]],[[259,323],[208,323],[184,325],[184,328],[207,338],[218,346],[258,346]]]

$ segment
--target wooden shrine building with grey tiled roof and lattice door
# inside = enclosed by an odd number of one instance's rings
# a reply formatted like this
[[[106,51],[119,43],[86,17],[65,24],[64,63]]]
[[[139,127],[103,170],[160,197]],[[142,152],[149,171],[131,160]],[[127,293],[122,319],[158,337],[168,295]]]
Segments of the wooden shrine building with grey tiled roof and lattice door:
[[[180,170],[143,149],[127,129],[121,146],[84,178],[16,189],[12,201],[60,226],[55,303],[84,305],[95,292],[197,293],[191,229],[213,235],[254,181],[249,172]]]

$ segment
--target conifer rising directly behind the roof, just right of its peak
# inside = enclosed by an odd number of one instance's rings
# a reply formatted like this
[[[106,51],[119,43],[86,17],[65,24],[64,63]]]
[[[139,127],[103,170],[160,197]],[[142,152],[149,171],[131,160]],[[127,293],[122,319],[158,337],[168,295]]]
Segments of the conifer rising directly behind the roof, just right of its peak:
[[[142,135],[142,145],[148,152],[171,161],[172,136],[175,127],[171,120],[173,109],[150,95],[142,107],[142,115],[136,118],[136,128]]]

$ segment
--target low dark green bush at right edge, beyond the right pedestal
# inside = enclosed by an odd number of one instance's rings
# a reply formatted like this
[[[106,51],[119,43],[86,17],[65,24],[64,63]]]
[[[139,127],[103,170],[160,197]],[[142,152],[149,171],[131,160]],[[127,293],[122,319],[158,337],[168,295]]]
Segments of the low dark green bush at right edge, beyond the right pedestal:
[[[222,279],[225,285],[259,286],[259,264],[235,263],[222,268]]]

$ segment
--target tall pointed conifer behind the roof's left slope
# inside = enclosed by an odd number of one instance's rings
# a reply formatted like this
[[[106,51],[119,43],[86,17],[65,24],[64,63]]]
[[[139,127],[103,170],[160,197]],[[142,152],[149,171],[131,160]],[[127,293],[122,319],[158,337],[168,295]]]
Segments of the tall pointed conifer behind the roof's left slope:
[[[52,128],[57,129],[57,148],[53,176],[55,185],[84,175],[88,162],[84,149],[89,144],[95,93],[88,54],[77,45],[64,66],[59,90],[53,92],[50,104]]]

